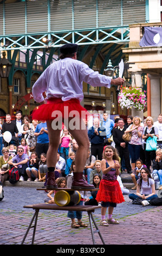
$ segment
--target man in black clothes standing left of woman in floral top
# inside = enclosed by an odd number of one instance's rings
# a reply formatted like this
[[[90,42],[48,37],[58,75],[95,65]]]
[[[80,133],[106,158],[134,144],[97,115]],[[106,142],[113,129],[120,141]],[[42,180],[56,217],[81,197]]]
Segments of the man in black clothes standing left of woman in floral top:
[[[122,118],[119,118],[118,127],[113,130],[113,140],[115,142],[115,148],[118,150],[121,163],[122,158],[124,157],[127,173],[131,173],[132,168],[129,160],[128,143],[125,142],[124,139],[122,139],[122,135],[124,135],[125,130],[126,127],[124,127],[124,120]]]

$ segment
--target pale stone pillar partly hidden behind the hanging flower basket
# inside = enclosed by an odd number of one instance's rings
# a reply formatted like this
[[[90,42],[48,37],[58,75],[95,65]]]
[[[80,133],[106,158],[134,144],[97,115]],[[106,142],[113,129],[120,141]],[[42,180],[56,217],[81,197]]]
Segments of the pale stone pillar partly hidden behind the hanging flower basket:
[[[142,72],[133,72],[132,74],[132,87],[142,87],[142,77],[141,77]],[[132,115],[135,117],[138,115],[142,120],[144,119],[144,112],[143,111],[138,111],[135,108],[132,108]]]

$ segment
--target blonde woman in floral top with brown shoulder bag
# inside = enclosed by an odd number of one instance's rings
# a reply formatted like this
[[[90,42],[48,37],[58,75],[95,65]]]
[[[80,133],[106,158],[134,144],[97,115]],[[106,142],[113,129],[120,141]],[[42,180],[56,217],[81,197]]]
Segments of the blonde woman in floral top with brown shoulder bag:
[[[132,169],[135,168],[135,162],[140,158],[140,150],[142,145],[142,133],[144,127],[141,126],[139,117],[133,118],[133,124],[129,125],[125,133],[132,133],[131,140],[128,142],[128,149],[131,155]]]

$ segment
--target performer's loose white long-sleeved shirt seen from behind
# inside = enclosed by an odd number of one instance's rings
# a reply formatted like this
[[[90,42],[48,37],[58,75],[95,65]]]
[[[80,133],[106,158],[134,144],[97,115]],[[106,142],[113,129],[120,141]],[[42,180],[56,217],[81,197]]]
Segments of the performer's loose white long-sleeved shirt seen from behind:
[[[93,87],[111,87],[111,77],[93,71],[87,64],[72,58],[65,58],[49,65],[33,86],[33,97],[36,102],[56,97],[62,101],[78,99],[82,101],[82,82]]]

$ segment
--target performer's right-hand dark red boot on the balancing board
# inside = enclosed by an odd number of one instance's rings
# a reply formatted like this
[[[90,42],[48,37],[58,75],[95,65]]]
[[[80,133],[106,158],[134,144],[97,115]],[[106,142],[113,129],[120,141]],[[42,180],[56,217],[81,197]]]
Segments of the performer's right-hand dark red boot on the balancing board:
[[[85,180],[83,180],[83,173],[73,173],[74,179],[72,182],[72,190],[78,190],[79,188],[84,190],[90,189],[93,190],[95,187],[93,185],[88,184]]]

